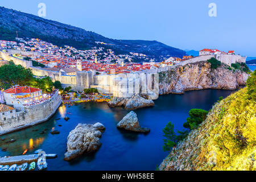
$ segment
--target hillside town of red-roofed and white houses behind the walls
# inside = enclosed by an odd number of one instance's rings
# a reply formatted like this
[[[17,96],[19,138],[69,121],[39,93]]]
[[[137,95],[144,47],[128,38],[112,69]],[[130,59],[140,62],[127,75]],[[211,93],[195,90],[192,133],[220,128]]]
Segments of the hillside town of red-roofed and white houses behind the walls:
[[[142,53],[130,52],[130,55],[115,55],[112,49],[100,47],[101,44],[105,44],[104,42],[96,42],[99,47],[82,51],[71,46],[58,47],[40,39],[16,38],[16,40],[17,42],[0,40],[0,48],[20,51],[13,53],[13,56],[36,61],[48,71],[63,70],[68,75],[75,74],[77,71],[93,71],[97,75],[110,74],[113,70],[115,73],[144,72],[172,66],[193,57],[166,57],[163,61],[156,62]],[[23,55],[22,52],[31,52],[31,54]],[[202,49],[199,52],[199,56],[219,54],[234,55],[234,51],[226,53],[218,49]],[[77,66],[78,62],[81,67]]]

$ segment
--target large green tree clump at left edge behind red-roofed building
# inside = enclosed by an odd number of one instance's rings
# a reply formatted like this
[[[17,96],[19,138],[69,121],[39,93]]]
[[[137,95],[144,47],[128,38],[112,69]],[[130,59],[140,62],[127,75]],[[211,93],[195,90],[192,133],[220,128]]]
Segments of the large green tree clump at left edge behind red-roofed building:
[[[4,89],[13,85],[30,85],[34,80],[31,69],[15,65],[12,61],[0,67],[0,86]]]

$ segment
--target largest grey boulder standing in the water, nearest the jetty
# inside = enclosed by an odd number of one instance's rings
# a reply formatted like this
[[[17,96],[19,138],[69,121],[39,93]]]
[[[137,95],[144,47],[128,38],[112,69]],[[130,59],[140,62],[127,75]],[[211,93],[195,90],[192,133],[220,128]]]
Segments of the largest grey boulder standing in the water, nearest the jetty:
[[[101,123],[95,125],[79,124],[68,135],[67,152],[64,160],[75,159],[84,152],[94,152],[101,146],[100,137],[105,127]]]

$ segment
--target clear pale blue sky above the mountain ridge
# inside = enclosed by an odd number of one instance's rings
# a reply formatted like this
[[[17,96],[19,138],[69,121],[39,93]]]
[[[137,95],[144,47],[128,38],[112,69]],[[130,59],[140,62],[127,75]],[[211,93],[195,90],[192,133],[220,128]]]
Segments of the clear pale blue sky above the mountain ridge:
[[[158,40],[181,49],[218,48],[256,56],[255,0],[1,0],[0,6],[38,14],[113,39]],[[217,17],[208,15],[216,3]]]

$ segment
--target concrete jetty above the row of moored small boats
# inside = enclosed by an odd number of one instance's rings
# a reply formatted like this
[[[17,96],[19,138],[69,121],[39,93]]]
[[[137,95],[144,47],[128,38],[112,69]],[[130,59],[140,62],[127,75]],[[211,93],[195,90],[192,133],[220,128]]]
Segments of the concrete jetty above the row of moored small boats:
[[[46,154],[46,159],[54,159],[57,158],[57,154]],[[32,155],[18,155],[18,156],[9,156],[0,158],[0,165],[13,165],[13,164],[23,164],[23,163],[32,163],[36,162],[39,159],[38,154]]]

